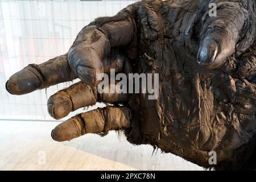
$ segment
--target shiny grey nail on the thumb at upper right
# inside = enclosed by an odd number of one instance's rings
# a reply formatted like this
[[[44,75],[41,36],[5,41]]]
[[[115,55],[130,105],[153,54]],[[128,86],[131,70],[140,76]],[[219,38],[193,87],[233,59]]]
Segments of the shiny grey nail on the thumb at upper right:
[[[203,45],[199,48],[197,55],[197,62],[204,66],[210,65],[216,59],[218,53],[218,44],[213,39],[207,39]]]

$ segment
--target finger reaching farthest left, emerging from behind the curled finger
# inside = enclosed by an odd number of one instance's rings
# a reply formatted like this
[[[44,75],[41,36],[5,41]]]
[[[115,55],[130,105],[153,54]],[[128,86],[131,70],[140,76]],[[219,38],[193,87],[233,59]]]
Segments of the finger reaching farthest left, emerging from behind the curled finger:
[[[75,73],[68,65],[67,55],[62,55],[43,64],[30,64],[15,73],[6,82],[6,90],[21,95],[75,78]]]

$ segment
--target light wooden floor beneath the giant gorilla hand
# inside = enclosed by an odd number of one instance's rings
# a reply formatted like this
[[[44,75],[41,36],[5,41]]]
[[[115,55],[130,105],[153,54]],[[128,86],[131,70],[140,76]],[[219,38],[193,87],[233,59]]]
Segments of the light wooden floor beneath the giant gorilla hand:
[[[134,146],[110,132],[55,142],[59,122],[0,121],[1,170],[202,170],[172,154],[152,154],[149,145]],[[44,157],[45,156],[45,157]],[[44,163],[45,162],[45,163]]]

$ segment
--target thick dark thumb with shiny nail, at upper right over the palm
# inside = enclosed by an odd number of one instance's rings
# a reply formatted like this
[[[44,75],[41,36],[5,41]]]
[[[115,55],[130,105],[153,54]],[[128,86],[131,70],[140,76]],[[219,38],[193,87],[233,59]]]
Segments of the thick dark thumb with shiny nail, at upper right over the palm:
[[[217,16],[205,14],[200,34],[198,63],[204,68],[214,69],[224,63],[236,49],[247,10],[239,2],[219,2]],[[244,30],[245,31],[245,30]]]

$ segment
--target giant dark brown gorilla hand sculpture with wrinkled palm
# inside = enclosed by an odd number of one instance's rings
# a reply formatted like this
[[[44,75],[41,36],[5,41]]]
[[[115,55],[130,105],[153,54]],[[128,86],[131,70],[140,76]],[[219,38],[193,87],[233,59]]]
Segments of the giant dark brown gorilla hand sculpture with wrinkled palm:
[[[208,14],[211,2],[217,16]],[[79,77],[49,98],[56,119],[97,101],[115,104],[61,123],[52,131],[57,141],[122,129],[131,143],[203,167],[255,169],[255,7],[251,0],[137,2],[82,28],[67,55],[28,65],[6,88],[26,94]],[[158,99],[97,93],[97,76],[110,68],[159,73]],[[208,163],[212,150],[216,166]]]

